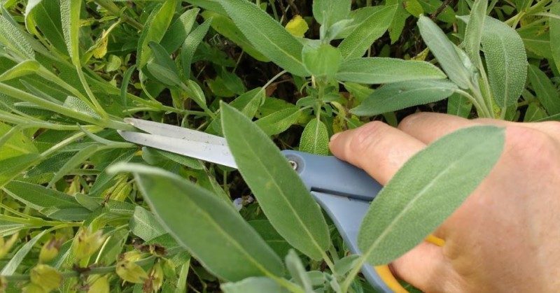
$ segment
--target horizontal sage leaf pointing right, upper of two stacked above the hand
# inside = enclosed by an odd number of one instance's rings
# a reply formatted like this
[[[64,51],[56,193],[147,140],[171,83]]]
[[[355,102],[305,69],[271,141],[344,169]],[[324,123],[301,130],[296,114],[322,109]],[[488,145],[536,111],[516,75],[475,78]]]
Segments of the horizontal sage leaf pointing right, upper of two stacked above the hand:
[[[445,74],[428,62],[395,58],[353,58],[342,63],[337,80],[380,84],[405,80],[440,79]]]

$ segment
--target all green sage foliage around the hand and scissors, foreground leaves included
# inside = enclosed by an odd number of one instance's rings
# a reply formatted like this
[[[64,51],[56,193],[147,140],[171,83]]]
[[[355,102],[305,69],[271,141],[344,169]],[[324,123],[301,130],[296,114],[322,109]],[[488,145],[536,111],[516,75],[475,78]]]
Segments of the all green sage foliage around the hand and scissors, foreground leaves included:
[[[278,148],[328,155],[332,134],[416,110],[560,118],[557,0],[1,3],[1,290],[369,292],[362,264],[452,213],[503,131],[411,159],[362,256]],[[241,172],[127,143],[125,117],[225,136]]]

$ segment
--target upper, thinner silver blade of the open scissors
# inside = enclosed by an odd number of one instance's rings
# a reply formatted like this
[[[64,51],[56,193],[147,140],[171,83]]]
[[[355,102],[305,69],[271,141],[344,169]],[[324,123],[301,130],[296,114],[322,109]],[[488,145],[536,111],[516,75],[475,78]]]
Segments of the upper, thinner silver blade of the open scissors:
[[[225,138],[207,134],[202,131],[134,118],[125,118],[125,122],[137,129],[148,132],[148,134],[186,139],[189,141],[200,141],[201,143],[212,143],[214,145],[228,145],[228,143],[225,142]]]

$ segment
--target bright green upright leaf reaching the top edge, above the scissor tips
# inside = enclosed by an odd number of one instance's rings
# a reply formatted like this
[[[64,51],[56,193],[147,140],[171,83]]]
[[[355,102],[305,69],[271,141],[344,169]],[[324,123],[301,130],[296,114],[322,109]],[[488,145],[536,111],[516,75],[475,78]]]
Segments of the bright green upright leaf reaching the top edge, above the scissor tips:
[[[65,0],[69,1],[69,0]],[[148,43],[151,41],[160,43],[165,31],[171,24],[171,20],[175,13],[176,0],[166,0],[164,3],[152,10],[152,13],[144,24],[144,30],[141,32],[138,40],[137,48],[137,68],[143,69],[151,57],[151,50],[148,50]]]

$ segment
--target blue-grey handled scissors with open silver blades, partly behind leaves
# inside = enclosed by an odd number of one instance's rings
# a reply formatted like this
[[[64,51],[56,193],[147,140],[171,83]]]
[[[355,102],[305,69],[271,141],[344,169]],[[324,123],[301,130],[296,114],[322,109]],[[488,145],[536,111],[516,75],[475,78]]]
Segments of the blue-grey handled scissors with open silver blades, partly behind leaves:
[[[237,169],[225,138],[148,120],[127,118],[125,122],[144,131],[119,131],[126,141]],[[381,185],[365,171],[336,157],[295,150],[283,150],[282,153],[335,223],[349,250],[359,255],[358,230]],[[380,292],[407,292],[386,265],[365,264],[361,271]]]

